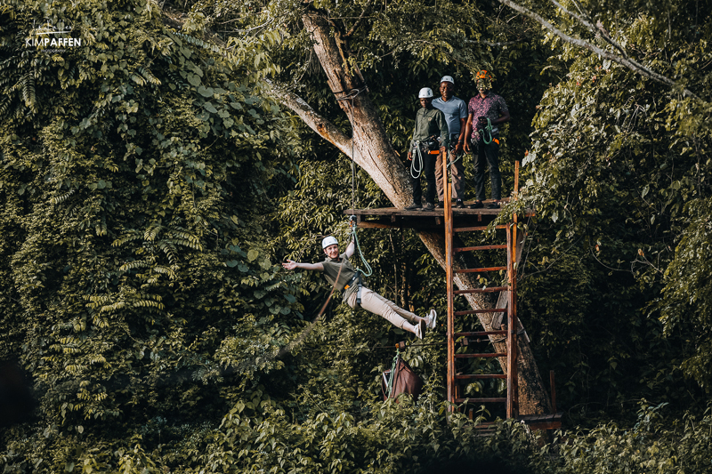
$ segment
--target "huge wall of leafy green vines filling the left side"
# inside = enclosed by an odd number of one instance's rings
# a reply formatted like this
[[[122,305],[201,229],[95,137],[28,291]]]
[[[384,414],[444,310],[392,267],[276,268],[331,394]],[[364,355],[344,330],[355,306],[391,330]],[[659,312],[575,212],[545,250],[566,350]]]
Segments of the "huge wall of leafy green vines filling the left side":
[[[0,357],[39,399],[3,434],[11,470],[157,470],[138,427],[218,421],[300,323],[265,218],[298,147],[254,62],[175,35],[156,4],[101,6],[0,17]],[[27,47],[33,21],[81,46]]]

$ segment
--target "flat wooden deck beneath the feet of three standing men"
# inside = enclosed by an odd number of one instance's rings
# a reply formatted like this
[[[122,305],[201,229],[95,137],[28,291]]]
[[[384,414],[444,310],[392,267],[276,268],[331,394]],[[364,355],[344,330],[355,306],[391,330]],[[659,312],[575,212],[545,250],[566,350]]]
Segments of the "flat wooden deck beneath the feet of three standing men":
[[[508,201],[508,197],[502,199],[503,203]],[[465,205],[473,203],[474,201],[465,201]],[[456,226],[486,226],[502,212],[501,208],[488,209],[487,205],[490,203],[491,200],[484,201],[484,207],[480,209],[457,209],[453,205],[453,221]],[[445,223],[445,210],[438,208],[433,211],[406,211],[397,207],[345,209],[344,214],[356,216],[356,223],[360,228],[442,230]],[[529,209],[523,214],[525,217],[533,215],[534,211]]]

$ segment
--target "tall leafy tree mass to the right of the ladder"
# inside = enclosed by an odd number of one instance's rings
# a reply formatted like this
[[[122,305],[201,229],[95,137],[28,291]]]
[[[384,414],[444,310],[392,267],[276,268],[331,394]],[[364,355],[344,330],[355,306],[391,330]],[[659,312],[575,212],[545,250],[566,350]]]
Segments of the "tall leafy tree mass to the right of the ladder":
[[[708,342],[693,329],[708,317],[696,302],[701,299],[688,299],[706,291],[706,263],[697,252],[706,241],[700,219],[710,195],[703,65],[712,59],[712,31],[701,20],[709,5],[695,12],[684,2],[626,4],[623,11],[606,2],[584,7],[635,60],[701,100],[549,36],[556,53],[551,67],[562,80],[538,106],[532,151],[523,162],[523,195],[538,213],[528,265],[538,276],[522,280],[522,317],[532,311],[531,335],[559,361],[569,359],[563,370],[583,369],[586,377],[576,379],[589,385],[582,390],[606,392],[604,402],[595,397],[599,403],[608,405],[611,397],[626,403],[631,390],[658,401],[691,397],[677,369],[706,390],[709,382]],[[560,26],[587,37],[572,21]],[[592,41],[615,52],[603,39]],[[571,283],[580,291],[571,293]],[[560,331],[572,323],[570,332]],[[581,394],[576,390],[574,398]]]

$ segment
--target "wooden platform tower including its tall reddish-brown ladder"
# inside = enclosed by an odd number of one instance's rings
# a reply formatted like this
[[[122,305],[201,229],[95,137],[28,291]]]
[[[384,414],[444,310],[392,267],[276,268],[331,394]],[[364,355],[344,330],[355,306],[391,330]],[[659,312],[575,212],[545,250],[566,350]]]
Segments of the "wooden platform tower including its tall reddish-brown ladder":
[[[447,169],[447,160],[443,161],[443,176],[449,176]],[[519,163],[514,165],[514,197],[517,198],[519,186]],[[505,199],[507,200],[507,199]],[[516,269],[522,257],[522,248],[524,242],[523,232],[517,229],[517,214],[514,214],[513,219],[506,224],[496,227],[501,235],[504,231],[504,236],[501,239],[503,242],[496,245],[473,245],[455,247],[455,239],[457,235],[464,236],[467,232],[483,232],[487,230],[487,222],[496,219],[499,214],[499,209],[457,209],[453,211],[451,201],[451,186],[445,186],[445,202],[443,209],[433,209],[433,211],[408,211],[395,207],[380,208],[380,209],[346,209],[344,213],[356,216],[357,225],[360,228],[370,229],[417,229],[426,232],[439,233],[445,228],[445,269],[447,274],[447,296],[448,296],[448,313],[447,313],[447,346],[448,346],[448,366],[447,366],[447,399],[452,404],[450,411],[463,408],[462,404],[469,403],[473,406],[481,406],[485,404],[504,404],[505,409],[499,405],[499,411],[505,412],[506,418],[515,418],[527,423],[532,430],[538,429],[554,429],[561,426],[561,412],[556,412],[555,409],[555,390],[554,390],[554,375],[551,374],[551,398],[552,406],[554,406],[553,414],[519,414],[518,409],[518,393],[517,393],[517,338],[523,337],[529,341],[527,333],[524,332],[522,325],[517,319],[517,281]],[[453,214],[454,217],[453,217]],[[523,210],[522,216],[533,216],[532,210]],[[457,220],[457,222],[456,222]],[[456,227],[456,223],[459,224]],[[455,257],[460,254],[470,252],[504,252],[506,254],[505,265],[478,267],[478,268],[461,268],[454,265]],[[467,290],[457,290],[455,280],[458,275],[467,273],[485,273],[506,271],[506,282],[498,285],[485,288],[473,288]],[[456,297],[464,297],[474,293],[498,293],[497,304],[493,308],[468,309],[455,311]],[[486,330],[464,330],[455,332],[456,317],[463,318],[467,315],[491,315],[490,324],[486,325]],[[506,317],[506,318],[505,318]],[[459,319],[461,320],[461,319]],[[502,324],[504,323],[504,324]],[[504,349],[494,349],[488,351],[481,349],[483,343],[491,346],[502,348],[503,344],[500,341],[506,341]],[[475,346],[478,349],[470,350],[470,353],[457,353],[457,349],[466,345],[468,350]],[[403,344],[405,347],[405,344]],[[463,366],[464,362],[472,361],[473,359],[492,360],[498,358],[500,366],[503,368],[503,374],[466,374],[464,371],[458,372],[457,366]],[[477,372],[477,371],[474,371]],[[495,372],[495,371],[491,371]],[[506,394],[504,397],[481,397],[467,398],[463,395],[462,386],[468,382],[481,381],[487,382],[491,380],[506,381]],[[469,412],[473,414],[471,410]],[[479,426],[484,426],[487,423],[481,423]]]

